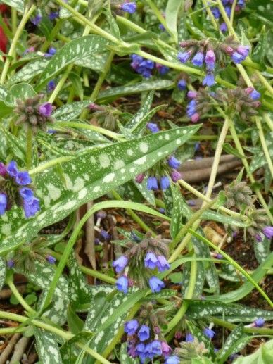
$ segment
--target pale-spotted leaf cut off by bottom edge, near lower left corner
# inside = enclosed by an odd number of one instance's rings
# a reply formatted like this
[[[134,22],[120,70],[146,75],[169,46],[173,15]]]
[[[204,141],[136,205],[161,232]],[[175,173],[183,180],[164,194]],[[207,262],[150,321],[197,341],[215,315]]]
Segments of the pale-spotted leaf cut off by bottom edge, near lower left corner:
[[[36,348],[39,360],[43,364],[58,363],[62,364],[61,354],[58,348],[56,335],[38,327],[33,326],[36,339]]]

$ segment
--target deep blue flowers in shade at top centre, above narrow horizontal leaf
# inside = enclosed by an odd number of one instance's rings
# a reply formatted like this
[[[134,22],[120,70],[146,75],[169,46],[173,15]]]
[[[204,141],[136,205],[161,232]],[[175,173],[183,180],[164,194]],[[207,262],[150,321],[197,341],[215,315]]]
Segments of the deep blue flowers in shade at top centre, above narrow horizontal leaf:
[[[132,54],[131,59],[131,67],[136,71],[136,73],[139,73],[139,75],[142,75],[144,78],[150,78],[153,69],[158,70],[158,73],[160,73],[160,75],[165,75],[165,73],[169,71],[169,68],[165,65],[155,63],[153,61],[150,61],[149,59],[144,59],[137,54]]]

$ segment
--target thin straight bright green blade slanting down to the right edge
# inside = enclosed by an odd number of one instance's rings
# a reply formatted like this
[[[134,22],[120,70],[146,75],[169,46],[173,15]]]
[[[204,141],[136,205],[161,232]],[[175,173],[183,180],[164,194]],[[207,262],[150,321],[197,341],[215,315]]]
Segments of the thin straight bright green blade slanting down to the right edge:
[[[248,274],[248,272],[246,272],[246,270],[244,270],[243,268],[241,268],[241,265],[239,265],[238,263],[236,263],[236,261],[234,261],[234,259],[232,259],[227,253],[225,253],[224,251],[222,251],[222,249],[218,248],[218,246],[216,246],[210,240],[208,240],[205,237],[203,237],[201,234],[198,234],[197,232],[195,232],[192,229],[189,229],[189,232],[193,235],[193,237],[196,237],[196,238],[200,239],[201,241],[203,241],[205,244],[208,244],[208,246],[210,246],[212,249],[214,249],[215,251],[217,251],[218,253],[220,253],[224,258],[226,258],[227,261],[229,261],[229,263],[231,263],[237,270],[239,270],[239,272],[241,272],[242,275],[244,275],[246,277],[246,279],[251,284],[253,284],[253,286],[266,299],[266,301],[269,303],[269,305],[271,307],[273,307],[273,302],[271,301],[271,299],[269,299],[269,297],[267,296],[267,294],[265,293],[265,291],[262,288],[260,288],[259,284],[257,284],[255,282],[255,280],[253,280],[253,278]]]

